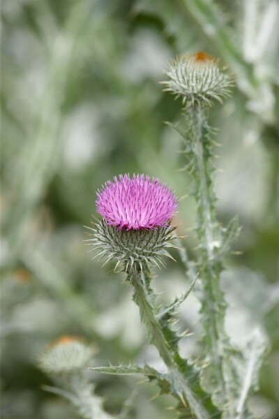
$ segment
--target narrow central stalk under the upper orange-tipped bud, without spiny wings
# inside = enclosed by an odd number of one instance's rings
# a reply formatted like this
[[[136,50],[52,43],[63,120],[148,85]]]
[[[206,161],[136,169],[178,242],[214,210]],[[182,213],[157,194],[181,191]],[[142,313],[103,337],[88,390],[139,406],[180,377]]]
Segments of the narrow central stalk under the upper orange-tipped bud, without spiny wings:
[[[223,291],[220,288],[220,270],[222,265],[214,258],[214,246],[218,223],[216,221],[216,196],[211,188],[210,143],[206,117],[202,108],[194,108],[191,114],[193,121],[192,140],[196,161],[197,214],[199,226],[197,233],[202,244],[200,253],[200,277],[203,283],[202,319],[204,325],[204,342],[207,358],[211,362],[211,371],[218,385],[218,392],[223,406],[227,406],[226,418],[234,419],[233,383],[234,368],[229,360],[229,339],[225,332],[225,307]]]

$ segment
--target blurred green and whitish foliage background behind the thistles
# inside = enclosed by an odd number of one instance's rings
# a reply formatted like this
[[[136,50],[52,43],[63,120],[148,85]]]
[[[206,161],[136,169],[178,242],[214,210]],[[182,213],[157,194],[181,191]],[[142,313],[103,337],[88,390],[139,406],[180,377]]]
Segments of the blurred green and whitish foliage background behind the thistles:
[[[101,269],[84,247],[96,189],[119,173],[160,177],[179,197],[179,233],[195,258],[195,203],[181,145],[165,121],[181,114],[162,91],[167,61],[204,50],[220,57],[236,86],[211,111],[218,128],[216,191],[222,222],[243,226],[227,260],[227,330],[235,344],[260,323],[270,340],[253,411],[279,418],[278,1],[3,0],[1,144],[1,418],[76,418],[41,389],[50,379],[39,353],[61,335],[99,349],[95,365],[158,363],[146,344],[122,274]],[[162,300],[188,281],[169,262],[154,286]],[[194,332],[181,353],[195,356],[199,304],[181,306]],[[196,332],[196,333],[195,333]],[[171,419],[167,397],[138,378],[89,373],[113,414],[135,397],[131,418]]]

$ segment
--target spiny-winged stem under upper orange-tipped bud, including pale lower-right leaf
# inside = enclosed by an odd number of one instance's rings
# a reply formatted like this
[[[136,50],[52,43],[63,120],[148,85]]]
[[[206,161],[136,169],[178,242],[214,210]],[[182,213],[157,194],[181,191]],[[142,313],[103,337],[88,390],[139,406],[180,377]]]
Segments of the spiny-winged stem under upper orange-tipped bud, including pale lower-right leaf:
[[[199,292],[200,320],[203,334],[204,369],[201,384],[212,395],[213,404],[223,411],[223,419],[254,418],[247,401],[248,394],[257,388],[257,375],[266,350],[266,338],[260,330],[249,342],[250,348],[236,350],[225,331],[227,303],[220,287],[220,273],[232,242],[239,234],[237,217],[224,228],[216,216],[216,194],[213,190],[213,130],[207,122],[208,107],[204,103],[187,103],[184,108],[186,128],[169,124],[184,140],[186,170],[193,179],[192,193],[197,203],[195,230],[199,239],[197,270],[202,281]],[[183,256],[183,254],[182,254]],[[191,264],[183,256],[188,272]],[[252,342],[252,343],[251,343]],[[252,359],[252,362],[249,360]],[[244,378],[243,378],[244,376]],[[255,385],[252,384],[252,376]]]

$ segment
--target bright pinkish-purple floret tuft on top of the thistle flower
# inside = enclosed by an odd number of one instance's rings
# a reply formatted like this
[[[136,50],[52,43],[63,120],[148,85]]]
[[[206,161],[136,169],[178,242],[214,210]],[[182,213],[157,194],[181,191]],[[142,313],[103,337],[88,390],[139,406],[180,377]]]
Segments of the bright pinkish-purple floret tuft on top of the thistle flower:
[[[144,175],[114,177],[97,197],[97,211],[119,230],[167,226],[177,207],[177,198],[167,184]]]

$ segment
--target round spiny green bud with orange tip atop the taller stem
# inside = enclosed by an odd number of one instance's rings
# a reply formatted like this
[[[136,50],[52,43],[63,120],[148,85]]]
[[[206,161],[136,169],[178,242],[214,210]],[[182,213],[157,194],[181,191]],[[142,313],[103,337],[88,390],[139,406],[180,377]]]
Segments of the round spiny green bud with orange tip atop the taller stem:
[[[227,68],[206,52],[180,55],[169,64],[165,75],[169,78],[162,82],[165,91],[181,96],[183,105],[211,105],[214,99],[222,102],[233,84]]]

